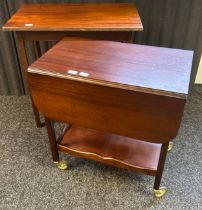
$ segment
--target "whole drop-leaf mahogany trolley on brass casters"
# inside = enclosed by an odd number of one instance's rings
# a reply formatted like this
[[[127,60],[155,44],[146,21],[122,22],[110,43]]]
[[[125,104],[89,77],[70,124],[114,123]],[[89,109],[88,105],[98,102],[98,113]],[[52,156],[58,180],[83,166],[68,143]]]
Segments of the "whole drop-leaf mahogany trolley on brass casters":
[[[135,55],[135,56],[134,56]],[[34,103],[58,152],[155,176],[160,188],[169,141],[177,135],[193,52],[65,38],[27,72]],[[56,140],[51,120],[71,123]]]

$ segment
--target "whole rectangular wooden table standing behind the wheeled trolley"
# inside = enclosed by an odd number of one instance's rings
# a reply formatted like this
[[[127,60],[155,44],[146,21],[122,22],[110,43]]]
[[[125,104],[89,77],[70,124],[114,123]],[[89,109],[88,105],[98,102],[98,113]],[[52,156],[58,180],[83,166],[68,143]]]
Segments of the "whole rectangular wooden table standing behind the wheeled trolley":
[[[25,41],[33,41],[37,57],[39,41],[58,41],[65,36],[132,42],[134,31],[143,26],[137,8],[129,3],[24,4],[4,25],[16,32],[24,69],[28,68]],[[39,113],[33,104],[37,127]]]

